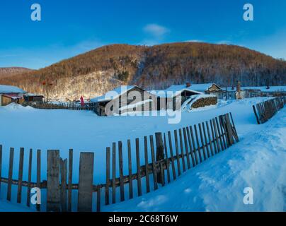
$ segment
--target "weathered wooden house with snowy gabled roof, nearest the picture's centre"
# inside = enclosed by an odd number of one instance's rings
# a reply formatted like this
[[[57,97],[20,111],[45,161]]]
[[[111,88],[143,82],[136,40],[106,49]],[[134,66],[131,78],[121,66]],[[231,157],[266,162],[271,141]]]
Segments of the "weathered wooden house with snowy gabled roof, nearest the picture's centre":
[[[143,112],[157,109],[157,96],[136,85],[122,85],[101,97],[91,99],[99,116],[111,116],[126,112]]]

